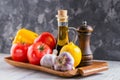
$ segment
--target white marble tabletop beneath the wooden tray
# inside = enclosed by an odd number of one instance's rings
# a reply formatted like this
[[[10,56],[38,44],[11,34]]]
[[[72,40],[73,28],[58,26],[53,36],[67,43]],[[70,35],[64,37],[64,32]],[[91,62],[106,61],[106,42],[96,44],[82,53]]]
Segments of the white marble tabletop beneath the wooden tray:
[[[9,65],[4,61],[4,57],[9,55],[10,54],[0,54],[0,80],[120,80],[119,61],[107,61],[109,63],[109,70],[92,76],[62,78],[40,71],[28,70]]]

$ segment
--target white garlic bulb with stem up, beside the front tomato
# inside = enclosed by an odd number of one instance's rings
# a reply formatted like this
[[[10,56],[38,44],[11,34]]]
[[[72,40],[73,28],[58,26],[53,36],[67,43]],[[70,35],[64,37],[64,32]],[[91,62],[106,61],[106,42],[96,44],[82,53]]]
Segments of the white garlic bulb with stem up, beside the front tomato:
[[[46,54],[42,57],[42,59],[40,60],[40,65],[44,66],[44,67],[48,67],[48,68],[53,68],[53,65],[55,63],[56,60],[56,54],[57,54],[57,50],[53,50],[52,54]]]

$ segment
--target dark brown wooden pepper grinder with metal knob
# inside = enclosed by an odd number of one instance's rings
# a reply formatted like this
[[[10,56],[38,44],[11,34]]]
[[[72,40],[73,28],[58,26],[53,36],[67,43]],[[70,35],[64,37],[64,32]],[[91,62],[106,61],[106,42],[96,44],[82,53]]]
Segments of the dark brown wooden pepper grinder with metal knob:
[[[88,66],[92,64],[93,54],[90,49],[90,37],[93,28],[83,21],[82,25],[78,28],[79,47],[82,51],[82,61],[79,66]]]

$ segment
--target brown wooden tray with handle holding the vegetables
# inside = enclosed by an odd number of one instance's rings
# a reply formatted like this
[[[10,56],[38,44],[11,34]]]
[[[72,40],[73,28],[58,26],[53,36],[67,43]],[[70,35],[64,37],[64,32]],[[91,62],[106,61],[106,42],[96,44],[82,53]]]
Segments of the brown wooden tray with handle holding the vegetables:
[[[42,67],[39,65],[33,65],[29,63],[13,61],[11,57],[5,57],[5,61],[13,66],[26,68],[26,69],[39,70],[39,71],[54,74],[57,76],[61,76],[61,77],[73,77],[76,75],[88,76],[88,75],[92,75],[92,74],[105,71],[108,69],[107,62],[103,62],[103,61],[93,61],[93,64],[90,66],[79,67],[74,70],[66,71],[66,72],[52,70],[52,69]]]

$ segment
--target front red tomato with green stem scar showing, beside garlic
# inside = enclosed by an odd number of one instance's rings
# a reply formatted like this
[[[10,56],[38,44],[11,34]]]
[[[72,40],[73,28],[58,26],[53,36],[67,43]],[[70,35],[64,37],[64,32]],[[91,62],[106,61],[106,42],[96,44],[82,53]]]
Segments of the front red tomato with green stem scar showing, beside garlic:
[[[41,58],[45,54],[51,54],[51,53],[52,50],[48,45],[42,42],[38,42],[38,43],[34,43],[29,47],[27,56],[31,64],[39,65]]]

